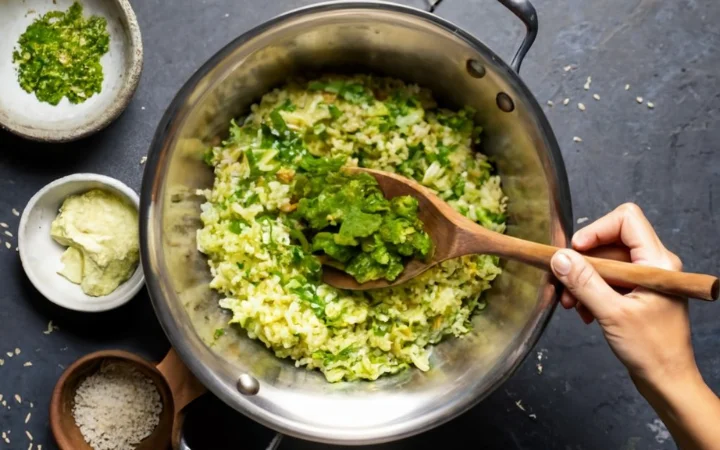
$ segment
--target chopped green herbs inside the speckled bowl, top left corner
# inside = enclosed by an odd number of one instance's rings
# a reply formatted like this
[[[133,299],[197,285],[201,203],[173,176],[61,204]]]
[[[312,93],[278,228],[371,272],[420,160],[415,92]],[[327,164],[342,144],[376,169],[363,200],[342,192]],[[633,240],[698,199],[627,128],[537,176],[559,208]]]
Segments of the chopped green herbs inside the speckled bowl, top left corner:
[[[50,11],[20,36],[13,52],[20,86],[38,100],[57,105],[63,97],[82,103],[100,92],[110,35],[104,17],[83,17],[75,2],[67,11]]]

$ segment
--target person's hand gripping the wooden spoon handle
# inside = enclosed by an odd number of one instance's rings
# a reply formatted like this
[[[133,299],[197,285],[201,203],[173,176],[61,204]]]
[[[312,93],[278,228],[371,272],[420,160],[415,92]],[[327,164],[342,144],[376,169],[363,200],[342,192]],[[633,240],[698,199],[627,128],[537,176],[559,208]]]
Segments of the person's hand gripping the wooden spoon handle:
[[[572,239],[586,252],[622,243],[634,264],[682,270],[680,259],[660,242],[642,210],[625,204],[581,229]],[[657,387],[699,376],[690,341],[687,299],[644,288],[621,295],[580,254],[560,250],[552,259],[555,276],[567,287],[560,301],[576,308],[585,323],[597,319],[605,338],[637,383]],[[640,387],[640,386],[638,386]]]

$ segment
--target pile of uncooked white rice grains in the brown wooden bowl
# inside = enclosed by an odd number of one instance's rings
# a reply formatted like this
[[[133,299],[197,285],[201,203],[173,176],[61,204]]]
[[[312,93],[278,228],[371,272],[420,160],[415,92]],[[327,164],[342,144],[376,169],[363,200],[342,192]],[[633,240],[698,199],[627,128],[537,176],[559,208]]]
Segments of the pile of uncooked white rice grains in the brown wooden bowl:
[[[105,362],[75,392],[73,417],[94,450],[132,450],[160,421],[152,380],[132,366]]]

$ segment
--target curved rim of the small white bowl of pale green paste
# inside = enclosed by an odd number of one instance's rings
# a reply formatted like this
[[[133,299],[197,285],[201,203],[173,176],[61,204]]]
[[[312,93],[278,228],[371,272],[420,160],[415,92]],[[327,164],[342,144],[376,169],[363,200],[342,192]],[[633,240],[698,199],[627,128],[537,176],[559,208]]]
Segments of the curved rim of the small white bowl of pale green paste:
[[[27,240],[25,239],[25,233],[29,221],[28,217],[30,216],[30,213],[33,211],[33,209],[35,209],[38,201],[45,195],[47,195],[49,192],[52,192],[60,186],[85,181],[93,181],[96,183],[100,183],[121,193],[125,198],[127,198],[127,200],[129,200],[133,204],[133,206],[139,212],[140,196],[122,181],[119,181],[107,175],[100,175],[95,173],[77,173],[73,175],[68,175],[45,185],[42,189],[37,191],[35,195],[30,198],[30,201],[28,201],[27,205],[25,205],[25,209],[23,210],[22,216],[20,217],[20,225],[18,227],[18,251],[20,253],[20,262],[22,263],[25,274],[30,279],[30,282],[33,284],[33,286],[35,286],[35,289],[37,289],[43,295],[43,297],[58,306],[62,306],[63,308],[71,309],[74,311],[103,312],[119,308],[137,295],[137,293],[145,284],[145,276],[142,269],[142,262],[138,263],[135,272],[127,281],[123,283],[130,286],[130,289],[127,292],[121,295],[118,294],[117,291],[114,291],[108,295],[97,297],[97,301],[85,303],[68,299],[61,293],[48,289],[47,285],[44,284],[43,281],[35,274],[35,272],[31,268],[30,262],[27,260],[27,258],[29,258],[27,248],[29,248],[31,244],[27,243]]]

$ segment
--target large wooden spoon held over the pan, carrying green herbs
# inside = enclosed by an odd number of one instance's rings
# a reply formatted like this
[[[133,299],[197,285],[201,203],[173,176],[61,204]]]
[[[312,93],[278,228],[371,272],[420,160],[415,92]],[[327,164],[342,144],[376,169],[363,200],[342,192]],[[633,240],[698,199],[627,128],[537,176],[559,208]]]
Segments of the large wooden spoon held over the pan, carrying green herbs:
[[[366,172],[374,176],[388,198],[411,195],[419,202],[419,216],[425,231],[435,244],[429,261],[413,259],[393,282],[375,280],[360,284],[352,276],[333,267],[323,268],[323,281],[349,290],[397,286],[415,278],[436,264],[463,255],[488,254],[531,264],[550,270],[550,259],[558,247],[525,241],[490,231],[452,209],[424,186],[403,176],[358,167],[345,168],[348,173]],[[717,300],[720,283],[717,277],[696,273],[673,272],[655,267],[586,256],[601,277],[616,287],[642,286],[682,297]]]

